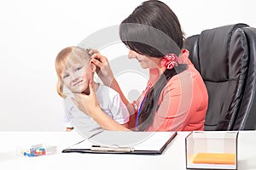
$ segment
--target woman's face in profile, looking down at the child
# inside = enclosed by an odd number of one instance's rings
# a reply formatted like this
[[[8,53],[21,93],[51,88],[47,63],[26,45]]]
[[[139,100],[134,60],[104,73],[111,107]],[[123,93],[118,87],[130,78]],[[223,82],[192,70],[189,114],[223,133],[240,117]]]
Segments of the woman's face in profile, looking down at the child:
[[[133,50],[129,51],[128,58],[137,59],[143,69],[160,68],[160,58],[148,57],[146,55],[138,54]]]

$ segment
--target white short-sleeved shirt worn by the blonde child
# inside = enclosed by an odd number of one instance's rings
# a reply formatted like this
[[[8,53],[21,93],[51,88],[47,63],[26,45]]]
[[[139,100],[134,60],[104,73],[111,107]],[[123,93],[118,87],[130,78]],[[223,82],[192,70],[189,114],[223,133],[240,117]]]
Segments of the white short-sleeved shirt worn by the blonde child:
[[[73,93],[66,94],[67,98],[63,100],[64,116],[63,122],[65,127],[74,127],[85,137],[102,131],[100,127],[90,116],[79,110],[73,103]],[[119,124],[125,124],[129,121],[130,114],[125,104],[120,99],[119,94],[112,88],[102,84],[96,89],[96,98],[99,105],[108,116]]]

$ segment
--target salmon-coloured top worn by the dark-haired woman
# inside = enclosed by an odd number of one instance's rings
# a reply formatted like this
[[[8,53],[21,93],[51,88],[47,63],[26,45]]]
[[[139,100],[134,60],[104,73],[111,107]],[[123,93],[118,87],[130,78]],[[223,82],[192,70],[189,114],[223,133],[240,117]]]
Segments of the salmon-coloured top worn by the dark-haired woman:
[[[204,130],[208,107],[208,94],[200,73],[189,58],[185,59],[188,68],[172,77],[163,88],[158,102],[159,109],[148,131],[194,131]],[[134,104],[138,111],[144,95]]]

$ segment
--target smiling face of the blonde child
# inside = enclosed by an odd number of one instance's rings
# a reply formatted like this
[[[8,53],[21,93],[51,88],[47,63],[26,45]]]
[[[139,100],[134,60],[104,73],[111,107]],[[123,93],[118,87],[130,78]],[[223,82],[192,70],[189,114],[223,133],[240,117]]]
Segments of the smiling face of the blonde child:
[[[64,85],[73,93],[88,93],[94,72],[91,65],[85,61],[68,65],[61,75]]]

